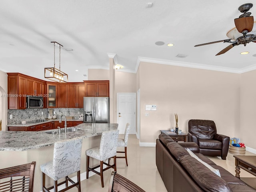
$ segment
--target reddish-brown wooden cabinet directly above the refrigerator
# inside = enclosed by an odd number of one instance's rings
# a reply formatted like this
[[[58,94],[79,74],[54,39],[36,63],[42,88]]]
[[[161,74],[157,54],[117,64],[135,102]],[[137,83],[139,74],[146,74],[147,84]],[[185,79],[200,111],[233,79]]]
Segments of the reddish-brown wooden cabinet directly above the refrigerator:
[[[109,81],[84,81],[86,97],[108,97]]]

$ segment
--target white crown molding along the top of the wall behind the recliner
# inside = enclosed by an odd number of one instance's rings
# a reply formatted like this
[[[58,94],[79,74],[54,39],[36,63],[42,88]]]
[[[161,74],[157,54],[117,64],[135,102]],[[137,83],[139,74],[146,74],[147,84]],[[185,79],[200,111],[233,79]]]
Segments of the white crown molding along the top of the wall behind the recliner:
[[[138,57],[136,68],[135,68],[136,72],[138,70],[140,62],[149,62],[149,63],[157,63],[157,64],[165,64],[165,65],[173,65],[173,66],[181,66],[181,67],[189,67],[189,68],[197,68],[197,69],[205,69],[205,70],[213,70],[213,71],[221,71],[221,72],[229,72],[229,73],[237,73],[237,74],[242,74],[244,72],[256,70],[256,65],[252,65],[242,69],[237,69],[237,68],[228,68],[228,67],[196,64],[196,63],[189,63],[189,62],[179,62],[179,61],[171,61],[171,60],[156,59],[156,58]]]

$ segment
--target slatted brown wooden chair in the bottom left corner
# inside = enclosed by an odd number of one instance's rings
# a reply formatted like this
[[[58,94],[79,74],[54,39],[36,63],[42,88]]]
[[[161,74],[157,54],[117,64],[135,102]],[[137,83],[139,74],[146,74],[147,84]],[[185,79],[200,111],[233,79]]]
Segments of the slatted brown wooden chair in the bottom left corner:
[[[0,169],[0,191],[27,191],[33,192],[34,173],[36,162]]]

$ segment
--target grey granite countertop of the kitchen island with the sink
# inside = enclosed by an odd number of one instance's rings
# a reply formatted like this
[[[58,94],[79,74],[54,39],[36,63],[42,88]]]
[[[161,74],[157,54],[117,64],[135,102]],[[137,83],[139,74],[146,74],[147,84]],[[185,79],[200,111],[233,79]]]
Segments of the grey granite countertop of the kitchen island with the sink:
[[[0,131],[0,151],[26,151],[40,147],[53,145],[54,142],[72,139],[72,138],[88,138],[101,135],[106,130],[114,130],[118,128],[116,123],[82,123],[76,128],[80,129],[76,132],[67,132],[59,134],[47,134],[47,131]],[[64,128],[62,128],[64,129]]]

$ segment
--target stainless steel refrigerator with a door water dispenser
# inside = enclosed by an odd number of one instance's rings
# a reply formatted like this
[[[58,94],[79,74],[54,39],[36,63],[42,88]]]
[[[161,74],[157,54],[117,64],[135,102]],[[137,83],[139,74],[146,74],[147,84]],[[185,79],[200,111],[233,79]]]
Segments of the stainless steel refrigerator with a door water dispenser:
[[[84,97],[84,123],[109,123],[108,97]]]

